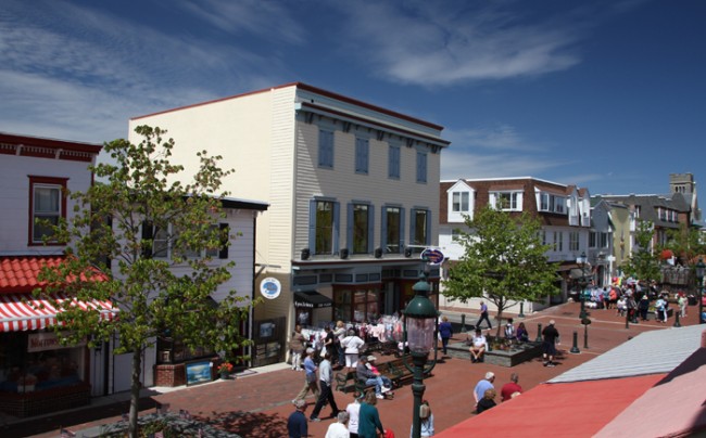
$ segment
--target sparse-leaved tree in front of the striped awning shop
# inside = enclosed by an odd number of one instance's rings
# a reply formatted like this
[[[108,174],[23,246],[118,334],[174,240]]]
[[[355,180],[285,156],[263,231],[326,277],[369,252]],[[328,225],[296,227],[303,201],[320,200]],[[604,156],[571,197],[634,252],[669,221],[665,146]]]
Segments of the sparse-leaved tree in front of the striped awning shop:
[[[142,137],[139,144],[121,139],[105,145],[115,164],[91,166],[105,182],[71,194],[76,216],[55,229],[68,245],[66,262],[46,269],[41,278],[50,286],[36,292],[49,296],[63,291],[86,302],[112,300],[119,309],[109,320],[97,309],[75,306],[77,301],[54,302],[63,325],[54,330],[66,344],[87,339],[91,347],[116,335],[115,353],[131,353],[130,437],[138,436],[142,353],[155,338],[168,330],[191,349],[206,347],[225,352],[226,359],[241,359],[231,352],[250,344],[240,322],[253,305],[235,291],[217,307],[209,299],[229,280],[234,266],[210,262],[207,256],[229,240],[218,218],[226,195],[222,180],[231,170],[218,167],[219,156],[199,152],[200,169],[184,184],[184,168],[169,163],[174,141],[163,140],[166,131],[148,126],[135,131]]]

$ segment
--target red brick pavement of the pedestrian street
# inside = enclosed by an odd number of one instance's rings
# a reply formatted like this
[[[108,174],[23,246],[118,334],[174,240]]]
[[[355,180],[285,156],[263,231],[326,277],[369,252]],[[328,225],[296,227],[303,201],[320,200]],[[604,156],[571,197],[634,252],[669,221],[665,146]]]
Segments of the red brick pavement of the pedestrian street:
[[[696,310],[690,308],[691,314],[681,321],[682,325],[696,322]],[[614,310],[590,310],[593,321],[589,325],[589,348],[583,348],[583,325],[578,319],[579,305],[565,304],[552,307],[542,312],[528,315],[524,319],[530,337],[537,336],[538,325],[545,326],[551,319],[556,321],[556,327],[562,335],[559,346],[560,357],[556,368],[542,366],[541,360],[521,363],[514,368],[504,368],[484,363],[470,363],[469,360],[445,359],[437,364],[433,375],[425,379],[426,392],[424,398],[429,400],[434,412],[437,431],[441,431],[471,415],[472,388],[482,378],[487,371],[496,375],[495,386],[500,388],[508,382],[509,374],[519,374],[519,384],[525,390],[530,389],[567,370],[577,366],[592,358],[622,344],[630,337],[648,330],[670,328],[675,320],[667,324],[654,321],[630,324],[625,327],[625,318],[615,314]],[[472,318],[471,318],[472,319]],[[519,322],[519,319],[515,319]],[[493,330],[494,331],[494,330]],[[578,355],[569,353],[572,346],[572,332],[578,333]],[[463,339],[465,335],[457,334],[455,339]],[[386,357],[380,359],[387,360]],[[302,372],[287,370],[274,371],[265,374],[253,374],[235,381],[220,381],[212,384],[187,387],[185,389],[155,395],[143,400],[146,409],[153,412],[153,403],[169,403],[171,410],[188,410],[194,417],[203,421],[217,421],[219,428],[239,434],[243,437],[282,437],[287,436],[287,417],[293,411],[291,399],[299,392],[304,384]],[[336,392],[337,404],[340,409],[352,401],[352,395]],[[310,401],[307,414],[313,410],[313,396]],[[391,428],[399,436],[406,436],[412,418],[413,396],[409,385],[404,385],[395,390],[393,400],[380,400],[378,409],[382,424]],[[5,437],[33,436],[41,438],[58,436],[60,425],[68,426],[72,430],[81,430],[100,424],[119,420],[119,410],[127,410],[127,404],[122,407],[106,407],[93,413],[98,415],[87,418],[84,412],[60,413],[43,418],[41,422],[10,425],[2,433]],[[124,412],[123,411],[123,412]],[[148,411],[146,410],[144,413]],[[323,437],[328,425],[333,421],[330,408],[322,411],[320,423],[310,423],[312,437]],[[41,425],[43,429],[37,430],[31,425]],[[24,427],[23,427],[24,426]],[[23,431],[24,429],[24,431]],[[42,433],[42,430],[45,433]],[[49,431],[51,430],[51,431]]]

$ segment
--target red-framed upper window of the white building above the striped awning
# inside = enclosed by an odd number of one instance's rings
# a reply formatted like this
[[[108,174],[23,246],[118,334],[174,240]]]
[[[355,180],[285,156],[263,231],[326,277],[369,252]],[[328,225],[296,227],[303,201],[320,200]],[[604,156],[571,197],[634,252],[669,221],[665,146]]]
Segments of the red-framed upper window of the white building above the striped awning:
[[[29,177],[29,244],[52,242],[60,219],[66,218],[67,178]]]

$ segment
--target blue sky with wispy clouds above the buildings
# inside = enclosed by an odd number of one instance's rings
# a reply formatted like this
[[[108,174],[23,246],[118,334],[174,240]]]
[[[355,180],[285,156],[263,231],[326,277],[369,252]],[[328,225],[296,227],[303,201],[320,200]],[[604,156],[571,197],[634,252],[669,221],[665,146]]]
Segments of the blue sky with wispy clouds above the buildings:
[[[3,0],[0,131],[102,143],[302,81],[444,126],[442,179],[666,193],[706,178],[704,23],[702,0]]]

